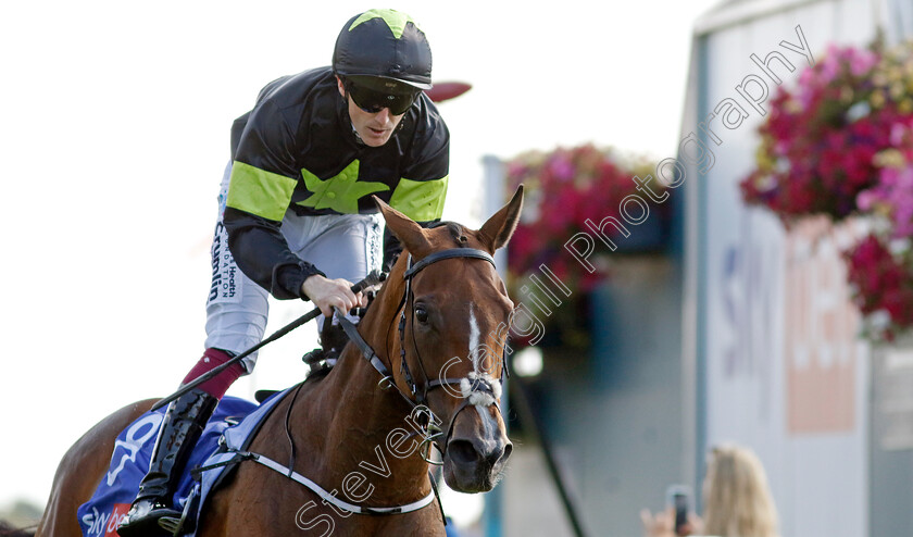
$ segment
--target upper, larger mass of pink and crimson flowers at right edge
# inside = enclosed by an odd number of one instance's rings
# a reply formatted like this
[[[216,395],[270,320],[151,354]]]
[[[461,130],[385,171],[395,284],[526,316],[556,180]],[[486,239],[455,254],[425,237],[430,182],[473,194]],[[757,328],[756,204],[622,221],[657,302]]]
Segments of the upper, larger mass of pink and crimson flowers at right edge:
[[[759,129],[756,166],[741,182],[749,204],[785,223],[861,212],[859,195],[913,126],[913,47],[830,47],[795,88],[780,86]]]

